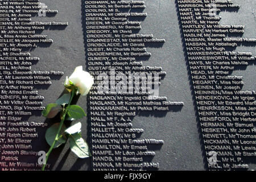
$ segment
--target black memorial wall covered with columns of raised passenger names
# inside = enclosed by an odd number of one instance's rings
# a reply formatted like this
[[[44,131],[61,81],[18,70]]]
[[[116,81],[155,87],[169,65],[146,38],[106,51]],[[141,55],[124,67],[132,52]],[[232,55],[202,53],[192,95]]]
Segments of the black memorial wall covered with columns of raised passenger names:
[[[41,112],[82,65],[82,137],[46,170],[255,169],[255,2],[1,1],[0,169],[40,170]],[[66,121],[65,125],[72,125]]]

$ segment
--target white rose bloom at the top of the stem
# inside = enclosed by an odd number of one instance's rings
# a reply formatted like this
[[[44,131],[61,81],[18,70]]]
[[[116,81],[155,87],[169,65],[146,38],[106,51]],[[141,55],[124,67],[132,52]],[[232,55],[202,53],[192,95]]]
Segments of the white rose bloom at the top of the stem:
[[[73,85],[79,88],[79,93],[82,96],[85,96],[86,94],[88,94],[94,82],[93,76],[90,75],[90,73],[82,71],[82,66],[76,67],[72,75],[69,76],[69,78],[67,77],[64,84],[67,88],[69,86],[72,86],[69,81],[71,81]]]

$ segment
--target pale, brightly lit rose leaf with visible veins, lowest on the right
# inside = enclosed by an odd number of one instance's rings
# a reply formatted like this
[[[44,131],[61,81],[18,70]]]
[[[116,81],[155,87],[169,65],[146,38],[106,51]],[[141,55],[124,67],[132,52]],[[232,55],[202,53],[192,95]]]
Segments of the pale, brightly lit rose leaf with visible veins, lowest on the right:
[[[89,158],[92,156],[88,144],[82,139],[80,133],[69,136],[69,144],[71,151],[74,152],[79,158]]]

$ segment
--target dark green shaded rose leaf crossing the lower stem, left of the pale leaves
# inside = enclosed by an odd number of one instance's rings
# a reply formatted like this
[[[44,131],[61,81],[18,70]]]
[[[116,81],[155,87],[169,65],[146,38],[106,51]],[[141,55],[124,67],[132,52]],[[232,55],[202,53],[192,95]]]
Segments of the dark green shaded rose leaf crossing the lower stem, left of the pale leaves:
[[[59,129],[59,126],[60,126],[60,123],[55,123],[55,124],[53,124],[51,127],[49,127],[46,130],[46,141],[49,144],[49,146],[51,146],[52,143],[54,142],[55,137],[57,135],[57,131]],[[64,134],[65,130],[66,130],[66,127],[65,127],[65,125],[63,125],[61,127],[61,130],[60,130],[60,133],[58,135],[58,138],[61,136],[61,134]],[[53,148],[59,147],[61,144],[65,143],[66,139],[67,138],[65,137],[65,135],[60,137],[59,140],[57,140],[57,142],[55,143]]]

